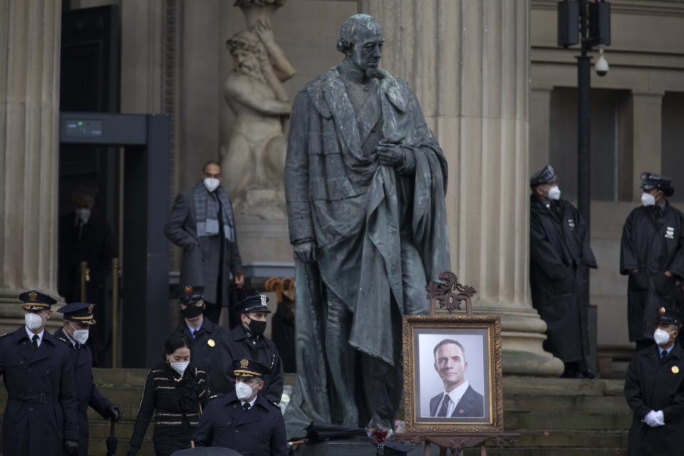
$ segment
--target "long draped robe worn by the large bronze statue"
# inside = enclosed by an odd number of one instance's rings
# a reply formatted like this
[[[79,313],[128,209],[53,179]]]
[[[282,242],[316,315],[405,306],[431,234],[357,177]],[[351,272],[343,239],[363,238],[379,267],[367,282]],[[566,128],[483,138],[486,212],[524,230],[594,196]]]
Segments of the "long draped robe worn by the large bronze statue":
[[[422,263],[423,280],[450,269],[444,154],[408,83],[381,72],[381,119],[364,118],[363,108],[357,118],[337,68],[294,100],[285,169],[289,234],[293,244],[315,242],[316,263],[296,261],[297,380],[286,410],[289,437],[301,436],[311,421],[330,423],[336,403],[326,369],[326,286],[353,312],[351,346],[399,370],[392,306],[395,313],[427,313],[425,294],[405,302],[403,279],[410,277],[403,277],[402,243]],[[385,140],[413,154],[415,173],[379,165],[363,147],[375,125]]]

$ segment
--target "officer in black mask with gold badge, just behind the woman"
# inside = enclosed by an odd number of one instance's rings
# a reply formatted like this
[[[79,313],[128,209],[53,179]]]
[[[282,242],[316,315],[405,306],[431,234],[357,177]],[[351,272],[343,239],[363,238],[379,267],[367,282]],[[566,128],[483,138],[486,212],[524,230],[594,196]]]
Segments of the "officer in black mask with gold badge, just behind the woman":
[[[221,347],[219,339],[224,329],[209,318],[204,318],[204,286],[183,286],[177,294],[179,311],[183,320],[173,333],[182,333],[191,343],[192,365],[204,371],[209,378],[209,391],[219,391],[232,388],[224,380],[223,375],[210,375],[212,368],[219,373],[222,369]]]

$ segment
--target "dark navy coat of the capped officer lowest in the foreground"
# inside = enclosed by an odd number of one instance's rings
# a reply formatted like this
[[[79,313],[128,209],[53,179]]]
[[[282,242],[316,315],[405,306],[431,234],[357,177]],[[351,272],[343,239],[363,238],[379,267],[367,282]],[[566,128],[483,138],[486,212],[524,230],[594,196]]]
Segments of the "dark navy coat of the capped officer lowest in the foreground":
[[[198,447],[225,447],[246,456],[287,455],[280,408],[260,394],[247,411],[234,392],[209,401],[192,441]]]

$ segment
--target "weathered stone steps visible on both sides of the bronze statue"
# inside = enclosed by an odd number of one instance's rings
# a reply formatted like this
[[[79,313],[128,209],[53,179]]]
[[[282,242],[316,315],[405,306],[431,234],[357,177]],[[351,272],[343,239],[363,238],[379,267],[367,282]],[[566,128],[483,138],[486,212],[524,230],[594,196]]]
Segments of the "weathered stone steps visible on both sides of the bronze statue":
[[[133,432],[147,369],[95,369],[98,389],[119,405],[124,419],[116,425],[118,453],[125,454]],[[294,375],[286,375],[286,384]],[[626,454],[631,425],[621,380],[559,378],[504,378],[504,427],[521,434],[514,445],[488,447],[487,455],[507,456],[615,456]],[[6,393],[0,388],[0,412]],[[90,418],[90,454],[105,454],[110,425],[93,410]],[[138,453],[152,456],[153,426]],[[413,454],[413,453],[412,453]],[[422,452],[421,452],[422,454]],[[479,455],[467,450],[466,456]]]

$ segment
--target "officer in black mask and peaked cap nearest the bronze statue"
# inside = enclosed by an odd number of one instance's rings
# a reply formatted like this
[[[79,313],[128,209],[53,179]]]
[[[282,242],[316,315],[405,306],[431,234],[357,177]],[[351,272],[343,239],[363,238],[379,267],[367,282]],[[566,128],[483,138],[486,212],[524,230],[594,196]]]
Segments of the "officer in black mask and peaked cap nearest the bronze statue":
[[[269,298],[263,294],[255,294],[240,301],[236,307],[240,312],[241,324],[225,333],[221,340],[222,365],[230,369],[236,359],[250,358],[269,368],[269,380],[264,390],[264,397],[271,403],[279,404],[283,395],[283,363],[275,344],[264,337],[266,330],[266,316],[271,313]],[[213,384],[222,384],[218,393],[229,393],[233,389],[235,380],[231,371],[212,371]]]

